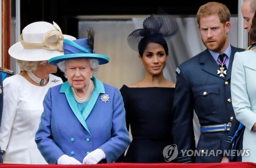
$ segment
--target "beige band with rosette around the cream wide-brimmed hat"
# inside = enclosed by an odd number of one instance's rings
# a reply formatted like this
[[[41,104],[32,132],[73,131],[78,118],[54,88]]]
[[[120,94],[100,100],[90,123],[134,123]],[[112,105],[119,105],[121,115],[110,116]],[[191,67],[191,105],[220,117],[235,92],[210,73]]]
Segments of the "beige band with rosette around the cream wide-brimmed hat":
[[[49,43],[48,39],[54,35],[58,35],[59,39],[57,40],[56,43]],[[64,39],[63,34],[57,30],[48,31],[42,39],[43,43],[29,43],[29,42],[26,42],[23,40],[23,34],[21,34],[19,36],[20,43],[26,49],[42,48],[42,49],[46,49],[46,50],[63,51],[63,39]]]

